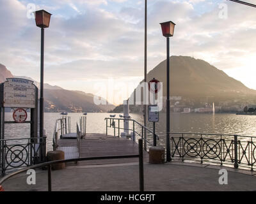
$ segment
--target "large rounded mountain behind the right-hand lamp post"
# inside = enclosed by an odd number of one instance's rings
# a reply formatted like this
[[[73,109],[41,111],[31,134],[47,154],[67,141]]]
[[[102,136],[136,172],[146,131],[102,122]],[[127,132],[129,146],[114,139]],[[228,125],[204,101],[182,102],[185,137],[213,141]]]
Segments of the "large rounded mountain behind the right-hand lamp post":
[[[152,78],[163,82],[163,96],[166,96],[166,60],[148,72],[148,82]],[[131,94],[134,98],[137,88]],[[206,103],[209,106],[214,102],[215,106],[221,106],[222,110],[228,110],[232,106],[239,109],[246,103],[252,105],[256,103],[255,90],[249,89],[208,62],[186,56],[170,57],[170,96],[181,98],[171,100],[172,107],[199,108],[204,107]],[[142,91],[141,98],[143,99]],[[163,105],[165,105],[165,101]],[[228,108],[225,109],[224,106]],[[134,112],[141,111],[138,106],[131,106],[130,109],[131,111],[134,109]],[[120,110],[122,110],[122,105],[116,107],[113,112],[120,112]]]

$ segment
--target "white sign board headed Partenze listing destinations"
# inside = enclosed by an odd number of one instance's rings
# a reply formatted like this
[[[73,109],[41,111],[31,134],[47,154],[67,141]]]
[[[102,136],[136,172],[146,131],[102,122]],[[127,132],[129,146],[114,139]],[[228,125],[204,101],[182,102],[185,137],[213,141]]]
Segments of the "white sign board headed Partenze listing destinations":
[[[35,108],[33,81],[24,78],[7,78],[4,82],[3,106],[15,108]]]

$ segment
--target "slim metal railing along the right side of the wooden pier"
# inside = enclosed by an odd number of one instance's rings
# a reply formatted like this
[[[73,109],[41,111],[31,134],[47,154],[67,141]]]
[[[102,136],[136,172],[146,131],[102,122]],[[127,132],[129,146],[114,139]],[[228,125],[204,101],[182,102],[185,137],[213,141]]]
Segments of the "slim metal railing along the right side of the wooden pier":
[[[108,135],[108,128],[113,128],[113,132],[114,132],[114,136],[118,136],[120,137],[120,130],[128,130],[128,131],[132,131],[132,140],[135,141],[136,140],[136,136],[140,136],[143,141],[144,141],[144,150],[147,151],[147,143],[150,145],[150,140],[146,139],[144,137],[144,133],[145,130],[148,133],[152,133],[153,135],[153,140],[159,140],[159,136],[157,136],[156,133],[154,133],[152,130],[148,129],[147,127],[143,126],[143,124],[140,124],[140,122],[133,120],[133,119],[115,119],[115,118],[105,118],[106,120],[106,135]],[[120,121],[122,121],[122,123],[124,123],[124,121],[129,121],[132,124],[132,128],[126,129],[126,128],[121,128],[122,124],[120,124]],[[124,126],[124,125],[123,125]],[[117,133],[116,133],[117,131]],[[156,142],[157,145],[157,142]]]

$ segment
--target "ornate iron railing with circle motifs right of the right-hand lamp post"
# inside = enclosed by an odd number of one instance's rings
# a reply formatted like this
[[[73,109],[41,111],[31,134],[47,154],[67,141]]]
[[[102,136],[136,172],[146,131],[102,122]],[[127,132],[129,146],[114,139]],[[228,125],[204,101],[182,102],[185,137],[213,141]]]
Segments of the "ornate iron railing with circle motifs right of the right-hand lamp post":
[[[204,133],[170,133],[172,159],[250,168],[256,163],[256,137]]]

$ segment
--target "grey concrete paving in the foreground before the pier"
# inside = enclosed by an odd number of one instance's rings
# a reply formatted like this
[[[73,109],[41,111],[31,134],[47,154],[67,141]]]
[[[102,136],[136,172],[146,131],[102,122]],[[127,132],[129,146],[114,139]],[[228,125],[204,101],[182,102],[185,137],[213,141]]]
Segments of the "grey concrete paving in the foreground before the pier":
[[[252,171],[228,170],[228,184],[220,185],[219,169],[186,163],[145,164],[145,191],[256,191]],[[139,191],[138,163],[68,166],[52,171],[52,191]],[[242,172],[242,173],[239,173]],[[47,191],[47,171],[36,170],[36,185],[22,174],[4,182],[5,191]]]

